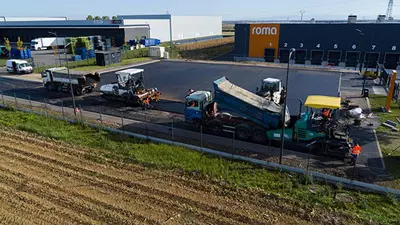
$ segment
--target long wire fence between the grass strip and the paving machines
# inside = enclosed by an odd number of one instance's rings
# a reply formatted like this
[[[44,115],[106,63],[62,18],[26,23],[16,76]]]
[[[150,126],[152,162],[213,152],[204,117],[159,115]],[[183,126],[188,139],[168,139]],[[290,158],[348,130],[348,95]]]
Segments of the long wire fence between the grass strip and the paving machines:
[[[200,127],[199,132],[185,130],[182,129],[184,127],[180,118],[172,117],[170,120],[160,121],[160,116],[157,116],[158,112],[152,114],[151,111],[142,111],[135,115],[129,115],[130,110],[128,112],[110,112],[110,109],[102,109],[101,107],[98,108],[98,111],[92,112],[84,110],[81,105],[73,109],[70,107],[70,102],[61,101],[57,104],[51,104],[48,99],[40,100],[35,98],[35,101],[33,101],[31,96],[17,94],[10,96],[3,95],[2,92],[0,92],[0,95],[0,106],[2,107],[13,107],[17,110],[50,116],[71,123],[81,123],[99,130],[104,129],[154,142],[183,146],[203,153],[243,160],[268,168],[305,174],[324,182],[341,183],[348,188],[392,193],[400,196],[398,190],[354,180],[353,178],[355,178],[356,174],[355,166],[345,167],[344,171],[339,171],[337,168],[340,168],[343,163],[332,160],[328,162],[330,166],[324,165],[321,167],[323,160],[320,157],[313,156],[310,152],[298,153],[288,150],[284,151],[284,165],[279,165],[277,164],[279,149],[273,147],[274,145],[271,142],[267,145],[257,145],[239,141],[235,139],[234,132],[227,133],[225,137],[214,136],[204,132],[203,127]],[[132,117],[135,117],[135,120]],[[365,167],[357,166],[357,170],[362,171],[365,169]],[[350,179],[333,176],[346,172],[349,174],[348,178]]]

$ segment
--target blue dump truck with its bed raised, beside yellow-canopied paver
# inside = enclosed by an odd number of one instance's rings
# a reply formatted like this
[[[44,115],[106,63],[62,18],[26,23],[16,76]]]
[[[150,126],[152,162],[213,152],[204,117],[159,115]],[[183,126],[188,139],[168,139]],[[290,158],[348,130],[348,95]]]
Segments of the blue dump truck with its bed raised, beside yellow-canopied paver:
[[[265,142],[267,130],[283,126],[281,105],[232,84],[226,77],[214,81],[213,86],[214,93],[194,91],[186,96],[186,122],[254,142]],[[286,110],[284,125],[289,122]]]

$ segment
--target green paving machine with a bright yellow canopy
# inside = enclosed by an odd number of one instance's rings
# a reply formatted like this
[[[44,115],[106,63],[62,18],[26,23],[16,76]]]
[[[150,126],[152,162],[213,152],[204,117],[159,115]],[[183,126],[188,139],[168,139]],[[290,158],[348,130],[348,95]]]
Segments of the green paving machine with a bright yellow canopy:
[[[304,105],[308,110],[285,129],[285,144],[301,148],[314,142],[315,153],[349,159],[352,140],[349,138],[348,125],[339,120],[341,99],[312,95],[308,96]],[[329,116],[324,117],[323,111],[326,110]],[[281,132],[281,129],[269,130],[267,137],[280,141]]]

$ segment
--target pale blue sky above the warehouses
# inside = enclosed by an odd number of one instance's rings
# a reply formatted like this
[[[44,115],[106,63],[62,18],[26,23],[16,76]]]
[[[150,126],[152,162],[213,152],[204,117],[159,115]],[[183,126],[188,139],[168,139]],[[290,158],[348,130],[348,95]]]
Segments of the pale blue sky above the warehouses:
[[[388,0],[18,0],[2,1],[1,16],[67,16],[85,19],[87,15],[219,15],[223,20],[347,19],[355,14],[359,19],[376,19],[386,14]],[[147,4],[146,4],[147,3]],[[399,16],[396,16],[399,15]],[[395,1],[393,17],[400,19],[400,3]]]

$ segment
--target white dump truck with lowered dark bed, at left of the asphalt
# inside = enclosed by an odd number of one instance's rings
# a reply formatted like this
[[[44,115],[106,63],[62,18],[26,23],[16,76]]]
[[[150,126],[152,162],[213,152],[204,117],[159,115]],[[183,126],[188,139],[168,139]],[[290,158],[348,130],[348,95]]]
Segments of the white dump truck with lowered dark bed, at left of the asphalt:
[[[100,74],[68,70],[65,67],[46,69],[42,72],[43,85],[48,91],[71,91],[80,96],[93,92],[100,82]]]

